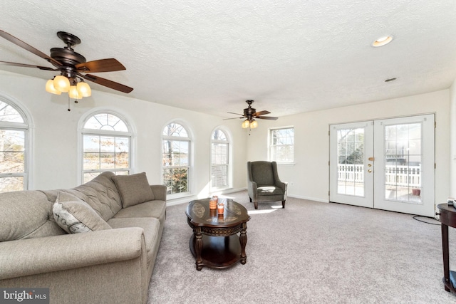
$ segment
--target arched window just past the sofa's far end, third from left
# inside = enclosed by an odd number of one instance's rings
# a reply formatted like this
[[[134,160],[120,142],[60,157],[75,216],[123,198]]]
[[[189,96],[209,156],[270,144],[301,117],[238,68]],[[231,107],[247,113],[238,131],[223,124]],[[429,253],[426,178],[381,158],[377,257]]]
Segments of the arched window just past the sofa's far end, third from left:
[[[163,129],[162,179],[171,197],[190,193],[190,144],[190,132],[182,124],[172,122]]]

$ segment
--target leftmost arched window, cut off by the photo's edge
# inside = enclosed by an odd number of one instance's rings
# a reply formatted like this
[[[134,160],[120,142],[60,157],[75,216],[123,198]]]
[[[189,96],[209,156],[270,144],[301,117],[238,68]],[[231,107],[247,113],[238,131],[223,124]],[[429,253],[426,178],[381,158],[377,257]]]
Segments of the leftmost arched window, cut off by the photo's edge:
[[[28,189],[28,150],[26,115],[0,98],[0,192]]]

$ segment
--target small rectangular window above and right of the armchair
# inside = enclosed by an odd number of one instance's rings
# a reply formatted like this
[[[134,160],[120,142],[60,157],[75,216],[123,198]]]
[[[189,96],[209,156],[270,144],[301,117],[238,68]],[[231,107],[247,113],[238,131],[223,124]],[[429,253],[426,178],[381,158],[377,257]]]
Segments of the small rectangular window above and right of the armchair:
[[[281,163],[294,162],[294,127],[269,130],[269,158]]]

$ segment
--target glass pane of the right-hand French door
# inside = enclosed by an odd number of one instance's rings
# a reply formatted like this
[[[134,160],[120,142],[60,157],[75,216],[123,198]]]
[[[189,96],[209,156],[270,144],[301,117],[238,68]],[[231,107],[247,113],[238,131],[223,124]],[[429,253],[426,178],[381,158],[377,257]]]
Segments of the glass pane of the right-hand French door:
[[[421,123],[385,126],[385,199],[421,201]]]

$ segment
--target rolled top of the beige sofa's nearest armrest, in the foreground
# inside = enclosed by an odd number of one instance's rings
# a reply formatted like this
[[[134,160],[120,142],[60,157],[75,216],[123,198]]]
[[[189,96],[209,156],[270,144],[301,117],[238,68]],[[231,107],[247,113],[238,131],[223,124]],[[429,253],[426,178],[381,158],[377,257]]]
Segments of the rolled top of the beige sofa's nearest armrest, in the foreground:
[[[0,279],[137,258],[143,234],[130,227],[0,242]]]

